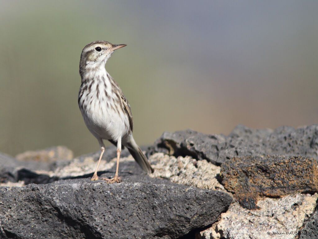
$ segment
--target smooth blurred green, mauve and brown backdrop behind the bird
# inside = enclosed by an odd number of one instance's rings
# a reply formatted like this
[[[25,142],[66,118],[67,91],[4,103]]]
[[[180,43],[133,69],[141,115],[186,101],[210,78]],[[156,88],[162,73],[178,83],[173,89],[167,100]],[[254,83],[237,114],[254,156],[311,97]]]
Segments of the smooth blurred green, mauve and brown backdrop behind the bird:
[[[134,137],[318,123],[318,1],[0,1],[0,151],[99,150],[77,105],[79,58],[127,44],[106,69]]]

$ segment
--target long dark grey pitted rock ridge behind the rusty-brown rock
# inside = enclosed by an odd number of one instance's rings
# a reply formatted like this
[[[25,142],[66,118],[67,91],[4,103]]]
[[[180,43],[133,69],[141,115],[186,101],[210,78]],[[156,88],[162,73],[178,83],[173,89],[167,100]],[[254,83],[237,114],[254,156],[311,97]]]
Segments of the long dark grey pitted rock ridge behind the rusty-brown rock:
[[[297,129],[282,126],[275,130],[236,126],[228,136],[202,134],[193,130],[164,132],[149,148],[148,154],[163,152],[192,156],[220,165],[234,156],[310,156],[318,159],[318,125]]]

